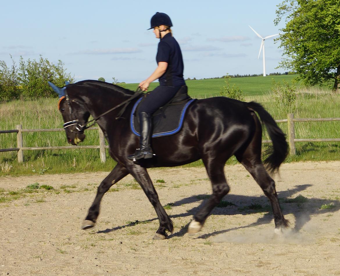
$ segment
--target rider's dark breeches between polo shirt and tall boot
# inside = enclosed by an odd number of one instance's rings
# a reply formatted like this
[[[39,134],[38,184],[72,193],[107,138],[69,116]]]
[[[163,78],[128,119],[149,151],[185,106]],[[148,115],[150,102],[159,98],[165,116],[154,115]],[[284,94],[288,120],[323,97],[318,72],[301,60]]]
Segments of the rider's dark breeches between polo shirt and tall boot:
[[[148,92],[143,100],[140,102],[138,115],[140,116],[141,112],[146,112],[151,115],[159,107],[169,102],[170,99],[175,96],[176,92],[181,87],[182,86],[157,86],[154,90]]]

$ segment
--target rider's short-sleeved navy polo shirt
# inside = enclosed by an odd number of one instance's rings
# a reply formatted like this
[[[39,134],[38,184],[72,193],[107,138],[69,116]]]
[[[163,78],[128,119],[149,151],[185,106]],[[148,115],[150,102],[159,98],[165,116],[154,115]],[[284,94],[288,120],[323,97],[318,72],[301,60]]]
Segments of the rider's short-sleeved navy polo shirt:
[[[180,86],[185,85],[183,79],[183,57],[180,45],[171,35],[166,34],[158,44],[156,62],[167,62],[166,72],[159,78],[160,85]]]

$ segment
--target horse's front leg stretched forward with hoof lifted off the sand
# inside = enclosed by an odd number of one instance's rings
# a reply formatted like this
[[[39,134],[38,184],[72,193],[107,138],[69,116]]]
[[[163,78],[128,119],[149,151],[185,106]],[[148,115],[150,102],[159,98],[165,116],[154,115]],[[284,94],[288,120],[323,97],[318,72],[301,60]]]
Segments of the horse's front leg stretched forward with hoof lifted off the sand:
[[[93,201],[91,207],[88,210],[87,216],[83,221],[83,224],[81,226],[83,230],[92,228],[96,225],[96,220],[99,215],[100,202],[102,200],[104,193],[106,193],[112,185],[117,183],[120,179],[122,179],[128,174],[129,171],[125,167],[121,166],[120,164],[117,164],[116,167],[113,168],[111,173],[109,173],[109,175],[105,177],[105,179],[99,185],[95,200]]]

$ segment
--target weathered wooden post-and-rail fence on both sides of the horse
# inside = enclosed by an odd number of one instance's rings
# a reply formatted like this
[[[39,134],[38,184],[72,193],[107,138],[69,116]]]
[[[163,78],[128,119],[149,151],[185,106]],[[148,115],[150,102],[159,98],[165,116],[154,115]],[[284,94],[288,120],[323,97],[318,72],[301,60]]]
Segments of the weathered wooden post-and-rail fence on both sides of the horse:
[[[326,121],[340,121],[340,118],[305,118],[295,119],[294,114],[288,113],[287,119],[275,120],[277,123],[288,123],[288,143],[289,143],[289,154],[295,155],[295,142],[340,142],[340,138],[323,138],[323,139],[296,139],[295,138],[295,127],[294,122],[326,122]],[[23,130],[22,125],[17,125],[16,130],[4,130],[1,133],[17,133],[17,147],[10,149],[0,149],[0,152],[7,151],[18,151],[18,162],[23,162],[23,151],[26,150],[68,150],[68,149],[99,149],[101,162],[106,161],[106,150],[108,148],[105,145],[104,133],[100,127],[90,127],[88,130],[98,130],[99,145],[94,146],[42,146],[42,147],[24,147],[22,133],[23,132],[53,132],[53,131],[64,131],[64,128],[44,129],[44,130]],[[263,140],[262,143],[271,143],[271,140]]]

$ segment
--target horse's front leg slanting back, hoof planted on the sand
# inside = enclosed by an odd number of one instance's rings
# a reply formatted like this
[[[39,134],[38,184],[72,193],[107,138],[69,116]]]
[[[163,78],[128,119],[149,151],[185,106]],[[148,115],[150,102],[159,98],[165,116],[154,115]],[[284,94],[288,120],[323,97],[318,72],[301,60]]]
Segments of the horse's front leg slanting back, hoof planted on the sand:
[[[142,168],[138,165],[133,165],[129,168],[132,176],[137,180],[139,185],[142,187],[143,191],[147,195],[149,201],[152,206],[155,208],[156,214],[159,219],[159,228],[156,231],[154,240],[163,240],[167,238],[166,231],[173,232],[173,223],[169,218],[168,214],[164,210],[163,206],[160,204],[158,199],[158,194],[155,190],[155,187],[152,184],[150,176],[145,168]]]

